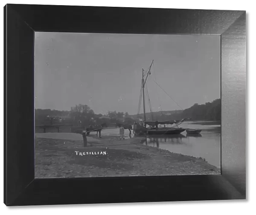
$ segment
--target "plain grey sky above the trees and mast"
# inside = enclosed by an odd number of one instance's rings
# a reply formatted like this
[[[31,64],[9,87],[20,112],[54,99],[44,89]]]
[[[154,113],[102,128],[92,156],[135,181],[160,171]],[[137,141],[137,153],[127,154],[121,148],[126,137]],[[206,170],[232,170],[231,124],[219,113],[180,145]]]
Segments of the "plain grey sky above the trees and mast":
[[[220,36],[36,32],[35,108],[83,104],[95,113],[136,114],[142,68],[153,59],[147,80],[153,111],[220,98]],[[145,106],[149,112],[148,99]]]

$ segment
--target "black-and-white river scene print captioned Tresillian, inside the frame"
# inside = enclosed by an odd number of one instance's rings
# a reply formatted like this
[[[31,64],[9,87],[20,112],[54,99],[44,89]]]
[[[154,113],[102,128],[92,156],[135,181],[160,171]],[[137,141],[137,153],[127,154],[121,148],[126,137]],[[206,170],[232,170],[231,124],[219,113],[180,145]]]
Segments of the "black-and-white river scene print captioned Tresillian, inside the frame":
[[[35,178],[221,173],[220,36],[35,32]]]

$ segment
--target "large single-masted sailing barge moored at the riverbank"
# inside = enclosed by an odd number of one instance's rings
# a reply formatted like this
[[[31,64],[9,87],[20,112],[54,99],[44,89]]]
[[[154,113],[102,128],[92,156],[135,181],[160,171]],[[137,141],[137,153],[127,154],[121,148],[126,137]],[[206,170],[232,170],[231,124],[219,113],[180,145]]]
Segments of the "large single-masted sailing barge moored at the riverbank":
[[[148,68],[147,71],[142,69],[142,82],[141,82],[141,88],[140,88],[140,101],[139,101],[139,109],[138,109],[138,114],[140,113],[140,105],[141,105],[141,99],[143,98],[143,113],[144,113],[144,124],[143,126],[140,124],[137,124],[134,127],[134,134],[140,134],[140,133],[147,133],[147,134],[180,134],[183,131],[185,131],[185,128],[178,127],[181,123],[183,123],[186,119],[182,120],[172,120],[172,121],[146,121],[146,113],[145,113],[145,85],[146,81],[148,79],[148,75],[151,74],[151,67],[153,65],[154,60],[152,60],[150,67]],[[156,83],[157,84],[157,83]],[[157,84],[158,85],[158,84]],[[158,85],[160,87],[160,85]],[[146,88],[146,93],[148,94],[148,89]],[[150,104],[150,99],[148,95],[148,102],[149,102],[149,108],[152,113],[152,108]],[[153,119],[153,115],[152,115]],[[158,127],[159,124],[172,124],[172,127]],[[150,126],[150,128],[147,128],[147,125]]]

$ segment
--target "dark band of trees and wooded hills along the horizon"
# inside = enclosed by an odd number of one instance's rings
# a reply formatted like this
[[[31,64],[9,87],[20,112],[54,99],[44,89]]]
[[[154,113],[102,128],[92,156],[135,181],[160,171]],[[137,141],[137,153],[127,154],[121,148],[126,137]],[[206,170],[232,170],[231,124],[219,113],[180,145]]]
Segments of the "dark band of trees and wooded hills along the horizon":
[[[108,116],[110,119],[100,119],[102,116]],[[108,111],[105,115],[96,114],[88,105],[75,105],[70,111],[67,110],[51,110],[51,109],[35,109],[35,124],[80,124],[88,126],[90,124],[102,124],[108,122],[115,124],[125,122],[132,124],[134,120],[143,117],[143,114],[129,115],[128,112]],[[103,117],[104,118],[104,117]],[[191,118],[192,120],[221,120],[221,99],[215,99],[212,102],[206,102],[203,105],[195,103],[185,110],[157,111],[146,113],[146,120],[179,120]]]

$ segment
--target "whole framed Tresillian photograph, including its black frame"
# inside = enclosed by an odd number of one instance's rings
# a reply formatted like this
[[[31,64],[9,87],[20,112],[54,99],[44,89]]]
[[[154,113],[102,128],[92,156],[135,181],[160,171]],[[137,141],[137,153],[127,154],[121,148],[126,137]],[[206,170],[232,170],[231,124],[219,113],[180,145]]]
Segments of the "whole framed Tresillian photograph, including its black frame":
[[[246,198],[246,12],[4,7],[7,206]]]

